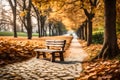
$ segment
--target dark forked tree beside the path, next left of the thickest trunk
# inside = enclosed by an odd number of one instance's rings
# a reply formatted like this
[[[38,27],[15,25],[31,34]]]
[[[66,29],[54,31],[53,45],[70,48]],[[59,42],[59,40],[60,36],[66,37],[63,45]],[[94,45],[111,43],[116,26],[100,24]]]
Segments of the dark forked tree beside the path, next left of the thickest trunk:
[[[98,4],[98,0],[81,0],[81,9],[84,10],[84,13],[87,17],[87,46],[92,43],[92,19],[95,16],[95,8]],[[90,5],[88,5],[90,4]]]

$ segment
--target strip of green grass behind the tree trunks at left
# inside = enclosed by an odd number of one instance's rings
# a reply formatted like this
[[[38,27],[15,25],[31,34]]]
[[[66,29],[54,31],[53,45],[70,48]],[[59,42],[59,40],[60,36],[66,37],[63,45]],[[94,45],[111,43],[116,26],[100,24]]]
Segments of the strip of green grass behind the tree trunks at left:
[[[18,36],[27,37],[25,32],[17,32]],[[0,36],[14,36],[13,32],[0,32]],[[38,36],[38,33],[33,33],[32,36]]]

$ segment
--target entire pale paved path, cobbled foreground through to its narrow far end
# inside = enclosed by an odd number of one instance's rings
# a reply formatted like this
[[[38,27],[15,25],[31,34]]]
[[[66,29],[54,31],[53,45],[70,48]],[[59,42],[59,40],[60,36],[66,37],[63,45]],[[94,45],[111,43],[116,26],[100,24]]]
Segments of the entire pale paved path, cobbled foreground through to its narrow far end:
[[[73,39],[70,55],[64,62],[53,63],[32,58],[0,68],[0,80],[74,80],[82,71],[81,61],[87,56],[77,39]],[[80,61],[80,62],[79,62]]]

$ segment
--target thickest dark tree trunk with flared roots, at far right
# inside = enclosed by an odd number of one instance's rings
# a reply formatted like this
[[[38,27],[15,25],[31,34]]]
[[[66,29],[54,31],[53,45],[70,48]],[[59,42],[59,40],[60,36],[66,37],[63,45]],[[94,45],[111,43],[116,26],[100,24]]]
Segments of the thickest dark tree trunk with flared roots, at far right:
[[[116,0],[104,0],[105,5],[105,30],[103,48],[99,58],[114,58],[119,48],[116,36]]]

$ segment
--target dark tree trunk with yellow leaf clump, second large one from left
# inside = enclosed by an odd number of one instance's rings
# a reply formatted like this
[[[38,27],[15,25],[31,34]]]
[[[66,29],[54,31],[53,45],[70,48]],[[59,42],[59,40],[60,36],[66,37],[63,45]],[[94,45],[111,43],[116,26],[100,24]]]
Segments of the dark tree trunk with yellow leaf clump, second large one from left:
[[[26,4],[27,3],[27,4]],[[32,10],[32,0],[23,0],[23,10],[20,13],[22,24],[27,31],[28,39],[32,38],[32,21],[31,21],[31,10]]]

